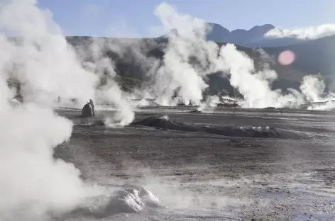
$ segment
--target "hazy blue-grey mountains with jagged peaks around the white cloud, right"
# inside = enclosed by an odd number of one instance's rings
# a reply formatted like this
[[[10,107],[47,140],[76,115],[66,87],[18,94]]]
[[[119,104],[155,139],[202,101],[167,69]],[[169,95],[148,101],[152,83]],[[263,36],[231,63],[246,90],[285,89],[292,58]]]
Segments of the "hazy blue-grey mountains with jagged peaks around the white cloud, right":
[[[278,55],[281,52],[290,50],[295,53],[295,62],[291,64],[292,69],[305,74],[320,73],[327,84],[334,84],[335,35],[313,40],[297,39],[295,36],[288,38],[264,38],[265,34],[275,28],[275,26],[267,24],[254,26],[250,30],[238,29],[233,31],[229,31],[215,23],[209,23],[209,26],[212,26],[212,31],[207,33],[207,39],[209,40],[230,42],[251,48],[262,47],[275,60],[278,59]],[[278,30],[280,31],[280,29]],[[278,68],[282,69],[282,67]],[[287,77],[292,79],[297,77],[296,74],[292,74],[290,71],[287,72],[285,70],[283,72],[283,70],[278,70],[278,68],[276,70],[279,75],[286,74]]]

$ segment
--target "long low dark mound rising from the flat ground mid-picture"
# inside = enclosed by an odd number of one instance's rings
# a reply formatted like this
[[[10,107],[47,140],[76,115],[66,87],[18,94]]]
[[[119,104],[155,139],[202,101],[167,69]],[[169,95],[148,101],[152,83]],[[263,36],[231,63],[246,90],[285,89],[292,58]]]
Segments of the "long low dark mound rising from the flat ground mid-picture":
[[[160,118],[158,116],[152,116],[150,118],[145,118],[132,125],[142,125],[145,127],[160,128],[163,130],[179,130],[185,132],[207,132],[214,135],[223,135],[227,137],[265,137],[265,138],[278,138],[282,137],[292,137],[288,132],[280,132],[274,128],[261,128],[261,127],[251,127],[251,128],[233,128],[229,126],[220,125],[189,125],[187,123],[179,123],[167,118]]]

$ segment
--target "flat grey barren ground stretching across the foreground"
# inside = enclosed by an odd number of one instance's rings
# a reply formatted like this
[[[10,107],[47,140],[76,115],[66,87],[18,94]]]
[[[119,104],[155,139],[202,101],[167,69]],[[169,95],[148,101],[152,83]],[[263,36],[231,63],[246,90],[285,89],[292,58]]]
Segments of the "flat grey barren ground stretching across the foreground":
[[[59,109],[75,127],[55,157],[73,162],[87,182],[138,185],[162,205],[62,220],[335,220],[334,113],[192,110],[143,108],[120,128]],[[98,108],[88,122],[112,115]]]

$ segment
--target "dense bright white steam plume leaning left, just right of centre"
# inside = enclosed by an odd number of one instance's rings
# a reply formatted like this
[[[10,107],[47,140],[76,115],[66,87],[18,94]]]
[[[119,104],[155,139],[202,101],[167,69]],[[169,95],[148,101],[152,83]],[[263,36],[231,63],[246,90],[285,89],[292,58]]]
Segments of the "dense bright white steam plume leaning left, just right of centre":
[[[221,47],[221,61],[228,69],[231,86],[238,89],[244,98],[243,107],[246,108],[281,108],[291,106],[292,102],[300,101],[300,94],[294,89],[283,95],[282,91],[271,89],[271,83],[277,79],[275,71],[263,69],[256,71],[253,60],[236,47],[227,44]]]

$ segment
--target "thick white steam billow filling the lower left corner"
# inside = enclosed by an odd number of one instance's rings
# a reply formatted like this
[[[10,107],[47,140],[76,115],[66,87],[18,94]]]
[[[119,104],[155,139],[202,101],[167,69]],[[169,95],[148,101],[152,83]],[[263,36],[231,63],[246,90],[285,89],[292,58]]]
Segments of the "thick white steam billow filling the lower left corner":
[[[46,212],[74,208],[86,194],[79,171],[53,159],[53,147],[70,138],[72,123],[32,103],[12,108],[4,98],[1,94],[6,108],[0,117],[1,220],[38,220]]]

